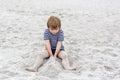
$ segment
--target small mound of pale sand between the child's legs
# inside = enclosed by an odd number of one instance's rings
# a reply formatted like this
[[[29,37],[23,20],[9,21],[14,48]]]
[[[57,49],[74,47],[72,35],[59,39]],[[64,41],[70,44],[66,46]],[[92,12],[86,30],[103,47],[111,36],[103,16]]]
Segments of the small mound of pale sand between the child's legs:
[[[59,74],[62,69],[62,65],[60,65],[60,63],[53,57],[50,57],[49,60],[39,69],[39,73],[44,76],[47,75],[49,77],[54,77]]]

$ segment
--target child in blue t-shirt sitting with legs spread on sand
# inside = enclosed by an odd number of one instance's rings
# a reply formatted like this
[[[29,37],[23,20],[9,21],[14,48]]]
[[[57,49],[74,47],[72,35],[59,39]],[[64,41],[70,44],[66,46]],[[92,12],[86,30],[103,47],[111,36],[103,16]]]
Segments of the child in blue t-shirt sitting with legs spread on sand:
[[[39,66],[42,65],[43,59],[54,57],[62,59],[62,65],[66,70],[76,70],[69,66],[68,56],[64,51],[62,41],[64,41],[63,30],[61,29],[61,20],[51,16],[47,22],[48,29],[44,32],[44,40],[46,49],[37,57],[33,67],[26,68],[27,71],[37,72]]]

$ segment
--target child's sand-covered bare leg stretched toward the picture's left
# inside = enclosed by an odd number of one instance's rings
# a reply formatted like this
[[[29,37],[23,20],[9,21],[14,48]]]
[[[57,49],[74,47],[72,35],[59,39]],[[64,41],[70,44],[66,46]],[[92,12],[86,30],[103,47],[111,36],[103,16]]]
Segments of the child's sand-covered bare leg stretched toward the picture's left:
[[[26,70],[32,71],[32,72],[38,71],[39,66],[42,65],[43,59],[46,58],[46,57],[49,57],[49,54],[48,54],[47,50],[43,51],[41,54],[38,55],[33,67],[26,68]]]

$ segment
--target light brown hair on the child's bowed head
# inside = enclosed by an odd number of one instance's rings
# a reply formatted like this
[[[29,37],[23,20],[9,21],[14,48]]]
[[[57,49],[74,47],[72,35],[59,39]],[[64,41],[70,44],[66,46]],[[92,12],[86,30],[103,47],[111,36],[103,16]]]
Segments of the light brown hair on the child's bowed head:
[[[61,20],[55,16],[50,16],[47,21],[47,27],[51,29],[60,29],[61,28]]]

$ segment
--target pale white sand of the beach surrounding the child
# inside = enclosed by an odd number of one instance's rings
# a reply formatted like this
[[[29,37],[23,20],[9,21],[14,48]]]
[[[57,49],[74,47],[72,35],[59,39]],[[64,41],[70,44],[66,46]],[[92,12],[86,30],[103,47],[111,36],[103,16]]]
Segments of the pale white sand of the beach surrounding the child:
[[[120,0],[0,0],[0,80],[120,80]],[[58,16],[64,46],[76,71],[45,60],[28,72],[44,49],[47,19]]]

